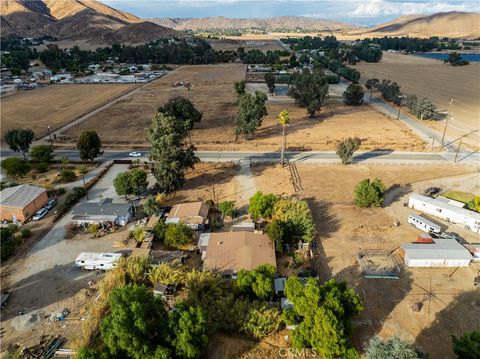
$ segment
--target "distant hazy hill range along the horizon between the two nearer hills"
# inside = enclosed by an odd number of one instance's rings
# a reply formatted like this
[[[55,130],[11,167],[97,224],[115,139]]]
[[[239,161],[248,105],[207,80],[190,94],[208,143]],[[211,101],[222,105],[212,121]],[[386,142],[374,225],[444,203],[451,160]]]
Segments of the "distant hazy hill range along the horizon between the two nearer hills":
[[[266,19],[232,19],[223,16],[204,18],[156,18],[150,21],[171,27],[175,30],[241,30],[241,29],[268,29],[268,30],[311,30],[334,31],[351,30],[354,25],[339,21],[313,19],[302,16],[278,16]]]

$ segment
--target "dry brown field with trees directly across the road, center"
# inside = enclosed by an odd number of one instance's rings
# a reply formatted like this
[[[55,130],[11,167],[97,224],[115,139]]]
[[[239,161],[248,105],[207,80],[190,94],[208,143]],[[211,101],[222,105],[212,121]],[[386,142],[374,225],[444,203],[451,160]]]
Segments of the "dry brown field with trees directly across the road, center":
[[[334,150],[336,143],[347,136],[363,140],[362,150],[425,151],[425,144],[401,123],[388,119],[375,109],[364,105],[348,107],[330,103],[313,119],[304,108],[293,103],[268,103],[269,115],[252,141],[235,141],[234,105],[236,94],[233,82],[245,75],[245,65],[182,66],[175,72],[152,82],[129,99],[95,114],[65,133],[75,139],[82,130],[94,128],[104,145],[111,147],[147,146],[145,129],[150,126],[157,108],[173,96],[182,95],[192,100],[203,112],[202,122],[196,125],[192,142],[199,150],[216,151],[276,151],[281,143],[278,113],[287,109],[291,125],[288,129],[289,150]],[[176,81],[192,84],[189,91],[173,87]]]

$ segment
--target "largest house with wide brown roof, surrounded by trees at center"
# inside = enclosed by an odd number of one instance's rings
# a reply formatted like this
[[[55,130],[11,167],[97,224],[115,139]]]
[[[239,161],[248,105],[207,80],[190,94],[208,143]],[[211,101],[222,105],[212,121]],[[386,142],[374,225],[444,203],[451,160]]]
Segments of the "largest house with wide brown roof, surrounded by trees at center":
[[[203,267],[233,276],[241,269],[252,270],[262,264],[277,267],[275,248],[266,234],[253,232],[209,233]]]

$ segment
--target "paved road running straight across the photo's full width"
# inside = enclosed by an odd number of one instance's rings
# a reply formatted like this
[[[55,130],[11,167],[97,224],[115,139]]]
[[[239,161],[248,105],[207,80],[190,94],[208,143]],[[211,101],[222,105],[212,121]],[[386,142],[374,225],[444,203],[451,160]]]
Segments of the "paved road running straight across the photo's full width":
[[[142,153],[139,157],[141,161],[147,160],[149,156],[148,150],[137,150]],[[128,156],[129,151],[105,150],[100,158],[101,161],[111,161],[120,159],[134,159]],[[203,162],[238,162],[250,161],[253,163],[272,163],[280,162],[280,152],[213,152],[213,151],[197,151],[197,156]],[[1,157],[14,156],[16,153],[5,150],[2,151]],[[58,150],[55,151],[57,158],[66,156],[71,160],[79,160],[78,151],[76,150]],[[303,162],[312,164],[335,164],[340,162],[335,152],[286,152],[285,157],[290,162]],[[400,151],[367,151],[357,152],[353,157],[354,162],[376,163],[376,164],[446,164],[453,162],[455,153],[452,152],[400,152]],[[460,152],[457,162],[479,164],[480,153]]]

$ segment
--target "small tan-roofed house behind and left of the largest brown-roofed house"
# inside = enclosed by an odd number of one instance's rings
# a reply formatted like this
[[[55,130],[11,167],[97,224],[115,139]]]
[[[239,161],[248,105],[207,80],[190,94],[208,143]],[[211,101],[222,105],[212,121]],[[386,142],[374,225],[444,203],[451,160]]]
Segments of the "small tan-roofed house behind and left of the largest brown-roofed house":
[[[207,223],[210,206],[203,202],[179,203],[172,207],[165,223],[183,223],[195,230]]]

